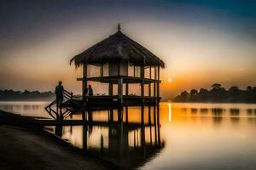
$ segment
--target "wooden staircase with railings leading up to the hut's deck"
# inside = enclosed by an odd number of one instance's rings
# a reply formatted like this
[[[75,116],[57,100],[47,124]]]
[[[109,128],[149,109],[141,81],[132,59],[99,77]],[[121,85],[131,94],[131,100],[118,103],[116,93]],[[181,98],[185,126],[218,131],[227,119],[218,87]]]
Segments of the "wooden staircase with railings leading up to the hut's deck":
[[[44,109],[55,120],[64,120],[82,106],[78,102],[79,97],[73,96],[72,92],[63,91],[63,101],[61,107],[57,105],[56,100],[47,105]]]

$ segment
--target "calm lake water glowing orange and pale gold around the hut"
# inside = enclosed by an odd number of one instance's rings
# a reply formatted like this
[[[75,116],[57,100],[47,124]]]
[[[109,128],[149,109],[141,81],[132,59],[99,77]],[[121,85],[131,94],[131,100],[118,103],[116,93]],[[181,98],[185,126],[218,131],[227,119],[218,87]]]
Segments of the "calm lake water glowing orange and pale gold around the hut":
[[[26,116],[49,117],[44,111],[47,104],[0,102],[0,109]],[[124,167],[256,169],[256,105],[161,103],[159,132],[157,127],[146,126],[148,108],[145,109],[144,131],[137,127],[141,109],[129,108],[128,113],[129,123],[121,127],[122,135],[119,135],[119,127],[51,128],[53,133],[58,131],[61,138],[71,144]],[[73,118],[80,119],[81,116]],[[125,116],[123,118],[125,121]],[[150,118],[153,120],[152,114]],[[107,121],[108,112],[94,112],[93,120]]]

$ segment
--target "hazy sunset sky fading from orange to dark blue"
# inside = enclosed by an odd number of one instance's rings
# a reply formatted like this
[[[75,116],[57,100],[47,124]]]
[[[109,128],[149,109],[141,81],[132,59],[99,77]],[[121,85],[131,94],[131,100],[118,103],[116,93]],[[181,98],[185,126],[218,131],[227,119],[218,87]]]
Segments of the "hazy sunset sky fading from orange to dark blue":
[[[0,1],[0,88],[74,92],[69,60],[122,31],[166,62],[161,92],[256,86],[256,1]],[[172,82],[168,82],[168,78]]]

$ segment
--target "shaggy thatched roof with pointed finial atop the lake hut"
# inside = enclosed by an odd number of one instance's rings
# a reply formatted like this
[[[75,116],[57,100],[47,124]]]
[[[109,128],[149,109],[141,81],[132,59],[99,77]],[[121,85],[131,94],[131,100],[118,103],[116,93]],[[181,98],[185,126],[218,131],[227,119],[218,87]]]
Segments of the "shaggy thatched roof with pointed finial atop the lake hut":
[[[120,29],[112,36],[96,43],[83,53],[75,55],[70,64],[76,66],[88,64],[102,64],[107,62],[128,61],[134,65],[160,65],[165,63],[148,49],[125,36]]]

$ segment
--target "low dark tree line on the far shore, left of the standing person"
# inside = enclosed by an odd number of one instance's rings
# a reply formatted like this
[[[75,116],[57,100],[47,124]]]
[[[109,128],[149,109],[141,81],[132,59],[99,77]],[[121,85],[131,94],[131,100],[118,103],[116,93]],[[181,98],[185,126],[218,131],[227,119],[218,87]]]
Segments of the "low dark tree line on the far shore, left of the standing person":
[[[36,91],[14,91],[10,90],[1,90],[0,89],[0,100],[1,101],[11,101],[11,100],[50,100],[54,99],[55,94],[51,91],[48,92],[39,92]]]

